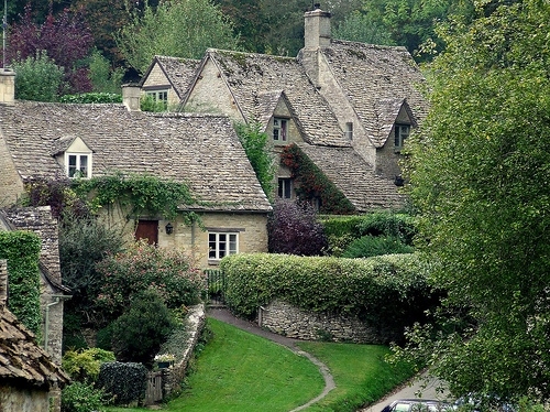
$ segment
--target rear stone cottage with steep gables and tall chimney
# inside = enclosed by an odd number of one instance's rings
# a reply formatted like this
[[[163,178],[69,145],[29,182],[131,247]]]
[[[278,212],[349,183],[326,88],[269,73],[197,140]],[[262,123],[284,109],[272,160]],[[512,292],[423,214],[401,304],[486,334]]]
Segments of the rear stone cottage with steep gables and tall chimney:
[[[361,213],[404,204],[398,162],[427,112],[424,83],[405,47],[334,40],[330,13],[317,8],[305,13],[297,57],[213,48],[200,63],[157,56],[141,86],[170,104],[179,97],[183,111],[258,121],[275,154],[297,144]],[[295,177],[279,167],[279,197],[296,196]]]

